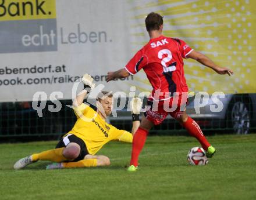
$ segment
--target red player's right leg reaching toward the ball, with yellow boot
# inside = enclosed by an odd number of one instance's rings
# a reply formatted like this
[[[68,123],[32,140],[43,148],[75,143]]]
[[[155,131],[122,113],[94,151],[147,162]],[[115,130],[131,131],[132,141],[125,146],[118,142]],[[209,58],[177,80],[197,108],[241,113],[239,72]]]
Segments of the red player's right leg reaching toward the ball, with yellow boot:
[[[194,121],[186,112],[182,112],[180,115],[170,114],[176,118],[181,125],[189,132],[189,134],[195,137],[201,144],[202,148],[207,152],[207,157],[211,158],[215,153],[215,148],[207,141],[206,137],[202,133],[200,126]]]

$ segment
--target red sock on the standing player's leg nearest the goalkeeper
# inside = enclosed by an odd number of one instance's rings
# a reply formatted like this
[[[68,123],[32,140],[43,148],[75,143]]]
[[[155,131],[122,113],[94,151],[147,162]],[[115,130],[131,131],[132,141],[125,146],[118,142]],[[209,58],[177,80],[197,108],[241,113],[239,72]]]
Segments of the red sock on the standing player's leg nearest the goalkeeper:
[[[138,128],[138,130],[134,134],[130,165],[138,166],[138,155],[140,155],[140,152],[144,147],[147,136],[148,131],[141,128]]]

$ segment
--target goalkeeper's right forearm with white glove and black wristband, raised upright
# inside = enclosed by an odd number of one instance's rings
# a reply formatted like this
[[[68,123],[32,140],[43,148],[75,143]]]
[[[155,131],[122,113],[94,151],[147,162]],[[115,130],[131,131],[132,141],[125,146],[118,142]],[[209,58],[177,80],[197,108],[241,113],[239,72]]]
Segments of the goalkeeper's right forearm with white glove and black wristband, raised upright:
[[[140,126],[140,110],[142,107],[142,101],[140,98],[133,98],[130,102],[131,115],[133,117],[133,128],[131,129],[131,133],[134,134],[138,127]]]

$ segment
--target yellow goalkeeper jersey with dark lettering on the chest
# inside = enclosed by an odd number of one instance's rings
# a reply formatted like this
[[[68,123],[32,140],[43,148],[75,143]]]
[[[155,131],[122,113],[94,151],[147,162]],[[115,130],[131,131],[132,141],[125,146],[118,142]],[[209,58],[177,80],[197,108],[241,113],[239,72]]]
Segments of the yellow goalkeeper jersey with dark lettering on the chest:
[[[131,143],[133,134],[119,130],[104,121],[90,106],[82,103],[73,107],[77,121],[69,134],[74,134],[86,143],[89,154],[96,154],[109,141],[124,141]]]

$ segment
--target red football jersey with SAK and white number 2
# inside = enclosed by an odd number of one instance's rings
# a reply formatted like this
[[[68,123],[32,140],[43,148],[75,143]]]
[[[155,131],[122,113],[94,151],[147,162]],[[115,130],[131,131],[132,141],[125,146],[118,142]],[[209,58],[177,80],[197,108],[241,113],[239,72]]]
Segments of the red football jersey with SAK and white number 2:
[[[161,35],[150,39],[125,68],[132,75],[143,68],[153,87],[152,99],[166,100],[172,97],[174,92],[188,92],[183,59],[192,51],[193,49],[181,39]]]

